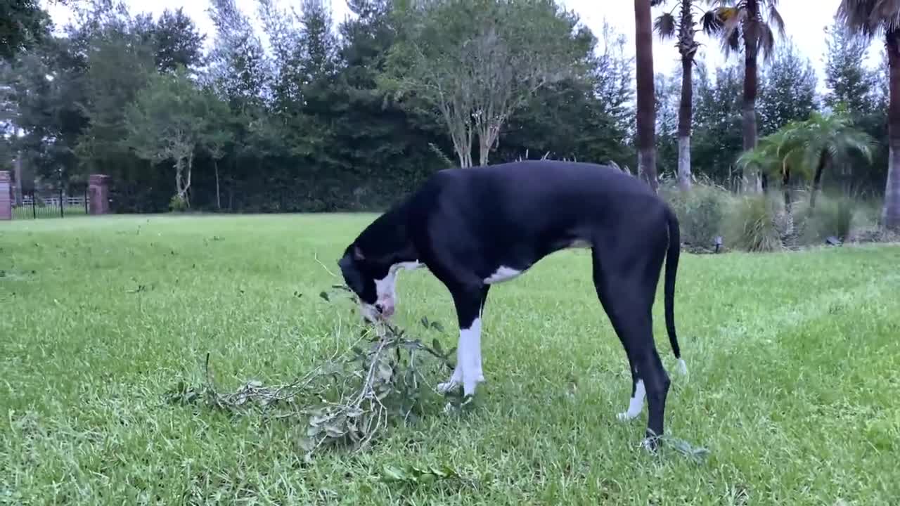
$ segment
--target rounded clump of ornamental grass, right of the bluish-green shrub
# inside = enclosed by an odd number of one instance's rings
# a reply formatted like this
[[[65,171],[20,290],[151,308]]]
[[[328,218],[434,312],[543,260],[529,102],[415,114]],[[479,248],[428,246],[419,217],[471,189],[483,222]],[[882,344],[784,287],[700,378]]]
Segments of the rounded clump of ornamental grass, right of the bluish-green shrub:
[[[790,216],[774,195],[747,194],[735,199],[725,221],[725,246],[746,251],[777,251],[790,229]]]

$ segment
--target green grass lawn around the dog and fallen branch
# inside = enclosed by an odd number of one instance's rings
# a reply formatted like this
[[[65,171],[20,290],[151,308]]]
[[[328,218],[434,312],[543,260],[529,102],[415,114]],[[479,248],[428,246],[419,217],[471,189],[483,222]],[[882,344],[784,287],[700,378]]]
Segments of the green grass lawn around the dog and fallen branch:
[[[431,393],[418,425],[365,452],[307,463],[297,423],[166,403],[179,380],[200,381],[207,352],[230,390],[290,381],[342,346],[350,305],[320,299],[335,280],[314,256],[337,272],[371,218],[0,224],[0,503],[900,502],[896,247],[682,255],[688,377],[665,337],[662,283],[654,335],[672,379],[667,434],[706,447],[700,461],[639,447],[646,407],[616,419],[630,375],[587,251],[491,290],[473,410],[445,414]],[[427,270],[401,274],[398,296],[402,327],[455,346],[449,294]],[[449,465],[473,481],[384,483],[384,465]]]

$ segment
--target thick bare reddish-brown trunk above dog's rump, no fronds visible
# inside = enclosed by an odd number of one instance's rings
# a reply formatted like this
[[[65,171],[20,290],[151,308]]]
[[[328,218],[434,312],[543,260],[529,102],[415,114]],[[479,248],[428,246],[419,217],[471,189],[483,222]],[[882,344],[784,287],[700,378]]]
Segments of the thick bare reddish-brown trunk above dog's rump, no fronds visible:
[[[650,0],[635,0],[635,60],[637,77],[637,168],[655,192],[656,96],[653,92],[653,21]]]

